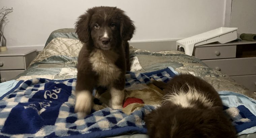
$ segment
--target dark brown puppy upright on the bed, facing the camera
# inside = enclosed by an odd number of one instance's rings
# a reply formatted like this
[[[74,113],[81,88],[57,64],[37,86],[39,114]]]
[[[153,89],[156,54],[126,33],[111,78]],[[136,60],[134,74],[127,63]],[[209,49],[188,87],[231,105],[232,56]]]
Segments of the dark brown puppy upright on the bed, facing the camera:
[[[75,112],[80,117],[90,114],[92,92],[98,87],[108,88],[112,108],[121,109],[133,21],[117,7],[93,7],[79,16],[75,29],[84,43],[78,56]]]

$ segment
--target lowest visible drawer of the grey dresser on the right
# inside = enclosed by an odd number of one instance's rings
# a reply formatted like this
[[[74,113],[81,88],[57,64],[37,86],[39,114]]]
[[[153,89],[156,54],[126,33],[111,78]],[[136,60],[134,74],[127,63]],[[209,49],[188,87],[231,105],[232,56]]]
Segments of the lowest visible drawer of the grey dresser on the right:
[[[251,91],[256,91],[256,75],[230,76],[237,83],[243,84]]]

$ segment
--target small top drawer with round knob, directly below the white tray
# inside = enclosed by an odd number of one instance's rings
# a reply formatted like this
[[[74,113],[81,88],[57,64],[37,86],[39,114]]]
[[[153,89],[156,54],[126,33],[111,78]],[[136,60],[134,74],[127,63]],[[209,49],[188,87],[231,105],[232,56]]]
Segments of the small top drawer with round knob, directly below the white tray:
[[[236,45],[195,47],[195,57],[205,59],[235,58]]]

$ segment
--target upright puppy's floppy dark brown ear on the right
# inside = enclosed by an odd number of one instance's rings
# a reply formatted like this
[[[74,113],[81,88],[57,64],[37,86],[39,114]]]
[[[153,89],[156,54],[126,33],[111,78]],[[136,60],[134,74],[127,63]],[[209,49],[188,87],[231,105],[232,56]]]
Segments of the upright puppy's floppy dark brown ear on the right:
[[[135,26],[133,24],[133,21],[123,12],[121,15],[121,25],[120,25],[121,38],[125,41],[130,40],[132,38],[134,31],[135,31]]]

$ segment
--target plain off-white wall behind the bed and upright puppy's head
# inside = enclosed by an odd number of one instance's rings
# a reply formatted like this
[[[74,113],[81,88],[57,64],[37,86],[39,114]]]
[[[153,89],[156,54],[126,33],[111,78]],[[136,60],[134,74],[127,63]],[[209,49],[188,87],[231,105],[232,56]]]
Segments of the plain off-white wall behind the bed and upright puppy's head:
[[[49,34],[73,28],[79,15],[99,5],[126,11],[137,27],[132,42],[186,38],[224,26],[226,0],[0,0],[13,7],[4,35],[8,47],[42,47]]]

